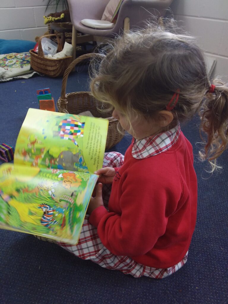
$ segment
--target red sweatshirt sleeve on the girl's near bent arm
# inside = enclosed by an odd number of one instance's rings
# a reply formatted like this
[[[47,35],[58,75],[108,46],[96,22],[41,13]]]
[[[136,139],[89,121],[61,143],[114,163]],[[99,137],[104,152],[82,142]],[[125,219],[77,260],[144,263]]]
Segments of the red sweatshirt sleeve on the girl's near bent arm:
[[[166,230],[167,193],[161,181],[129,173],[122,184],[120,213],[96,208],[89,221],[98,229],[102,244],[113,254],[147,253]]]

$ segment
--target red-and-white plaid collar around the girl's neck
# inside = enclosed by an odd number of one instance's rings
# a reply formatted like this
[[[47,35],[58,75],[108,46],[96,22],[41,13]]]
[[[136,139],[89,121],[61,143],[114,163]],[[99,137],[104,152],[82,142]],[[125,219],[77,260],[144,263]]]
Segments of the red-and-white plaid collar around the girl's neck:
[[[135,139],[132,148],[132,156],[137,159],[143,159],[167,151],[177,141],[180,132],[181,128],[178,124],[167,132],[140,140]]]

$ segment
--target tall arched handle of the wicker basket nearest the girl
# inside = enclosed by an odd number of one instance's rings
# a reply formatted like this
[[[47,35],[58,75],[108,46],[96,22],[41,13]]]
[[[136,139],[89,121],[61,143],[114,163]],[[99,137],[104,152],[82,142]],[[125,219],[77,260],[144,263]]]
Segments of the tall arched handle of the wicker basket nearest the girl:
[[[61,97],[60,97],[60,106],[63,106],[67,103],[67,100],[66,100],[67,78],[68,78],[68,75],[70,74],[70,72],[72,71],[72,69],[75,67],[75,65],[78,64],[79,62],[85,60],[85,59],[95,58],[95,57],[98,57],[98,56],[99,56],[99,54],[97,54],[97,53],[90,53],[90,54],[81,55],[80,57],[74,59],[71,62],[71,64],[67,67],[67,69],[66,69],[66,71],[64,72],[64,75],[63,75],[62,91],[61,91]]]

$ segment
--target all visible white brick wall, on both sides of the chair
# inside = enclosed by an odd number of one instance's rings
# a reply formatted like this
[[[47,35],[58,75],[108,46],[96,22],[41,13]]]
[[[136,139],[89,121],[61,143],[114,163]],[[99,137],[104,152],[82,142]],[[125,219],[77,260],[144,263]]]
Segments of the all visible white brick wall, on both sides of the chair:
[[[35,41],[43,35],[43,16],[55,11],[52,6],[45,12],[47,1],[0,0],[0,39]],[[228,0],[174,0],[171,10],[205,53],[217,60],[214,74],[228,82]]]

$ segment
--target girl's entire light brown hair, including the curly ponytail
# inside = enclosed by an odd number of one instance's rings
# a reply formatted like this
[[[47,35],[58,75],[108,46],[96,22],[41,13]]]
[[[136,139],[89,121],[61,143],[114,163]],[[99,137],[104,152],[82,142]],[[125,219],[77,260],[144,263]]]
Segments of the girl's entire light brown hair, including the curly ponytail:
[[[228,87],[214,79],[214,93],[209,93],[206,63],[195,38],[177,33],[171,23],[168,29],[153,24],[117,39],[108,54],[100,54],[98,69],[93,68],[91,93],[127,117],[156,120],[178,92],[168,129],[199,111],[201,136],[202,131],[207,135],[200,156],[213,171],[228,145]]]

